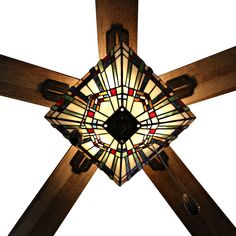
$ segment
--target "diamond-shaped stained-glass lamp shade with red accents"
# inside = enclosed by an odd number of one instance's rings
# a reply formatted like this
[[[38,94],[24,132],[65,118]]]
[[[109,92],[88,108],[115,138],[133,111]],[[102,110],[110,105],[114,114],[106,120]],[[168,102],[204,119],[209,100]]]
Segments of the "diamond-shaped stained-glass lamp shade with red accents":
[[[45,116],[118,185],[129,180],[195,119],[124,43],[111,50]],[[78,132],[77,132],[78,133]]]

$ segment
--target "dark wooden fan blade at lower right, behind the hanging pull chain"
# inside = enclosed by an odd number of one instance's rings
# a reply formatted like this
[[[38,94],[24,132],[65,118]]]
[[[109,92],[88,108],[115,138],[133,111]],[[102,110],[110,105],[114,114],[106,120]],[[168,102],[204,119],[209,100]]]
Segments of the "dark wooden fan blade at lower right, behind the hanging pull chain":
[[[194,215],[195,206],[193,206],[193,215],[186,211],[183,204],[183,193],[179,190],[167,170],[153,170],[147,165],[144,171],[191,235],[236,235],[236,229],[233,224],[174,151],[168,147],[165,149],[165,153],[168,156],[168,167],[175,177],[183,183],[189,195],[199,204],[199,215]]]

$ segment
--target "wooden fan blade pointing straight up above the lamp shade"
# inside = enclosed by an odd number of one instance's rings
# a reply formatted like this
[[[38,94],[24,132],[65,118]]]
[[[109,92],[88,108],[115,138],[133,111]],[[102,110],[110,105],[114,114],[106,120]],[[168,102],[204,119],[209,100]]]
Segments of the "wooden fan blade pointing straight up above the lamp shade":
[[[129,32],[129,46],[137,52],[138,0],[96,0],[99,56],[106,56],[106,32],[122,24]]]

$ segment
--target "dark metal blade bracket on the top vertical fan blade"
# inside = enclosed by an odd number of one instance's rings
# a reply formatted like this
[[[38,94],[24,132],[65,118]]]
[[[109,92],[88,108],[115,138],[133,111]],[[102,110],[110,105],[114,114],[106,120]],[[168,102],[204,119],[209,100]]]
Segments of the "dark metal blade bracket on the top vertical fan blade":
[[[107,54],[121,42],[129,45],[129,32],[123,28],[122,24],[112,24],[111,29],[106,32]]]

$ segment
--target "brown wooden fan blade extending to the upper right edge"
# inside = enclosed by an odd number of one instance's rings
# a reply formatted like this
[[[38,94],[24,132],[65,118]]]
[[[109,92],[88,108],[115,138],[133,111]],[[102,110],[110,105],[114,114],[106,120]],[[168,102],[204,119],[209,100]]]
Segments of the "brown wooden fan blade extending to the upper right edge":
[[[197,82],[194,94],[184,98],[185,104],[196,103],[236,89],[236,47],[196,61],[160,76],[167,81],[181,75]]]

